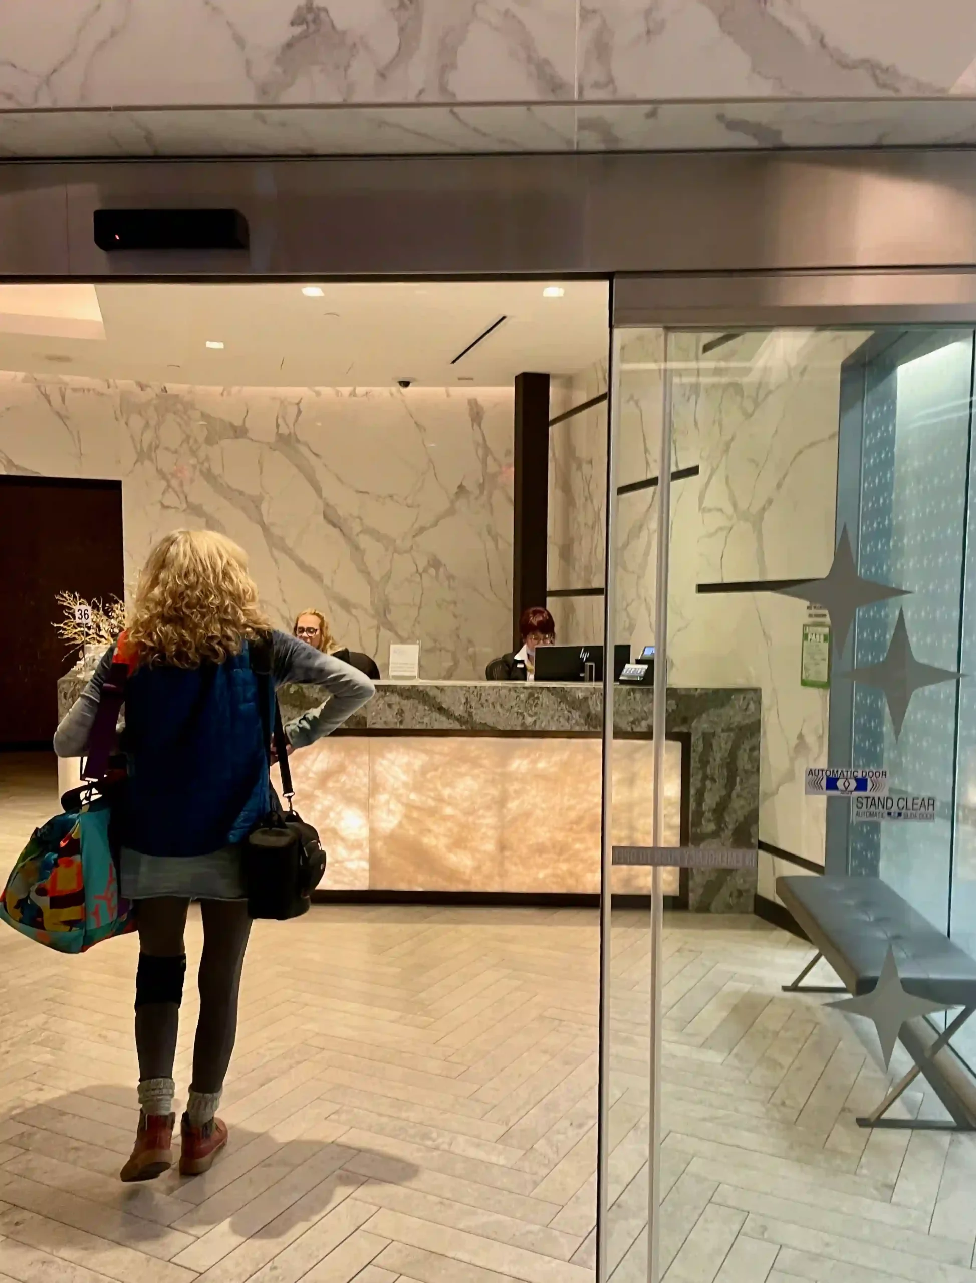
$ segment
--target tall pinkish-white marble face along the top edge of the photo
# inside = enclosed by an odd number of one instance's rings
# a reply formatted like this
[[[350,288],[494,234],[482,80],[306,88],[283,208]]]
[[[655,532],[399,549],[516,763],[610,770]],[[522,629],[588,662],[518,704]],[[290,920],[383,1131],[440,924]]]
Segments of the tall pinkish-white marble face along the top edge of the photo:
[[[549,104],[972,94],[968,0],[46,0],[0,106]]]

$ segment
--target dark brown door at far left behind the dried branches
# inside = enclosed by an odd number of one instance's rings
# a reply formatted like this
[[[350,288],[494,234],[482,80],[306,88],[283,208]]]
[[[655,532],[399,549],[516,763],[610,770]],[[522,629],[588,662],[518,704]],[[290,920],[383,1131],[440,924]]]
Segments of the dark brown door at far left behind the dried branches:
[[[122,597],[122,484],[0,476],[0,748],[50,748],[77,657],[54,598]]]

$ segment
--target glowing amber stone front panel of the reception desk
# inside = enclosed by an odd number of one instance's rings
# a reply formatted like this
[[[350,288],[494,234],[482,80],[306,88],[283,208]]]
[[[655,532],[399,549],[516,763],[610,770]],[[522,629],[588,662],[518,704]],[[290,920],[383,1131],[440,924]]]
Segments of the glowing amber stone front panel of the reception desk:
[[[652,742],[613,753],[613,840],[652,842]],[[681,842],[681,752],[666,744],[664,842]],[[291,758],[299,808],[328,851],[323,889],[595,894],[599,739],[549,735],[335,735]],[[613,889],[650,890],[649,869]],[[664,893],[678,894],[677,870]]]

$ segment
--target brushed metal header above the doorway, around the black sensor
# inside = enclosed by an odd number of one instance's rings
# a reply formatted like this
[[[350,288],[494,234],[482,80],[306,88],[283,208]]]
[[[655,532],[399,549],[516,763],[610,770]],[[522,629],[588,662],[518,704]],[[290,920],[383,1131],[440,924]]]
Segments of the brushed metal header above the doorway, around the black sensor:
[[[233,208],[250,244],[105,253],[92,236],[99,208]],[[0,163],[0,280],[714,276],[975,262],[976,151],[964,148]],[[685,294],[689,305],[704,305],[700,293]]]

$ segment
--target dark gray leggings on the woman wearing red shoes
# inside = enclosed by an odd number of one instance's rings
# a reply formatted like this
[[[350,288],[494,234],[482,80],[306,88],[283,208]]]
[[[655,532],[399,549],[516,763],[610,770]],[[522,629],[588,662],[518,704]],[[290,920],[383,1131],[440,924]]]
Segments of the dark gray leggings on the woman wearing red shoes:
[[[189,899],[176,896],[137,901],[140,953],[181,957],[189,907]],[[195,1092],[219,1092],[237,1034],[237,992],[251,920],[248,902],[240,899],[204,899],[200,901],[200,912],[204,921],[204,948],[198,973],[200,1019],[196,1023],[190,1087]],[[140,1079],[173,1076],[178,1026],[180,1007],[176,1002],[149,1002],[136,1008]]]

